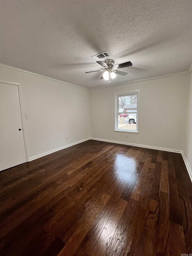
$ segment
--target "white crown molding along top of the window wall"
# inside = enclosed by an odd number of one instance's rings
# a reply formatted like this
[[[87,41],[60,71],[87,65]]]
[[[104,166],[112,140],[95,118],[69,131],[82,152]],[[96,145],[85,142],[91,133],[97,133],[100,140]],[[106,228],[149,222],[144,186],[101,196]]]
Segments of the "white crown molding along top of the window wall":
[[[192,66],[191,66],[190,68],[192,68]],[[163,75],[163,76],[159,76],[159,77],[144,78],[144,79],[134,80],[134,81],[127,82],[127,83],[119,83],[119,84],[114,84],[114,85],[96,87],[96,88],[91,88],[91,89],[89,89],[89,90],[92,91],[92,90],[104,89],[104,88],[108,88],[108,87],[114,87],[114,86],[120,86],[120,85],[127,85],[127,84],[131,84],[131,83],[140,83],[140,82],[145,82],[145,81],[149,81],[149,80],[155,80],[155,79],[161,79],[161,78],[167,78],[167,77],[175,77],[175,76],[190,74],[190,72],[191,72],[191,71],[190,71],[190,69],[189,69],[189,70],[187,70],[187,71],[182,71],[182,72],[179,72],[179,73],[168,74],[168,75]]]

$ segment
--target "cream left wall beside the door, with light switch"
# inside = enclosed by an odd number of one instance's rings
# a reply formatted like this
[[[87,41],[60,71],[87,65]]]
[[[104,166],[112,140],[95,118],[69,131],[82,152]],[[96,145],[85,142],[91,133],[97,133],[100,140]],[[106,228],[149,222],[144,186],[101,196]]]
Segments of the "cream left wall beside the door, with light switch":
[[[29,158],[90,137],[88,90],[4,68],[0,79],[21,84]]]

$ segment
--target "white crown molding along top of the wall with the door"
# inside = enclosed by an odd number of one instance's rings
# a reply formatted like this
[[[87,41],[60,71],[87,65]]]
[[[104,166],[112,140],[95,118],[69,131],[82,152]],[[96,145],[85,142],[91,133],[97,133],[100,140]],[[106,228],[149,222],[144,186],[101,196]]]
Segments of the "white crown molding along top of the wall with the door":
[[[67,82],[64,82],[64,81],[61,81],[61,80],[57,80],[55,78],[46,77],[46,76],[36,74],[36,73],[30,72],[30,71],[26,71],[26,70],[23,70],[23,69],[20,69],[20,68],[14,68],[14,67],[11,67],[11,66],[8,66],[8,65],[5,65],[5,64],[1,64],[1,63],[0,63],[0,68],[5,68],[5,69],[9,69],[11,71],[16,71],[16,72],[27,74],[27,75],[30,75],[30,76],[47,79],[47,80],[57,82],[57,83],[62,83],[64,85],[73,86],[73,87],[77,87],[77,88],[84,89],[84,90],[89,90],[88,88],[85,88],[85,87],[82,87],[82,86],[78,86],[78,85],[75,85],[75,84],[72,84],[72,83],[67,83]]]

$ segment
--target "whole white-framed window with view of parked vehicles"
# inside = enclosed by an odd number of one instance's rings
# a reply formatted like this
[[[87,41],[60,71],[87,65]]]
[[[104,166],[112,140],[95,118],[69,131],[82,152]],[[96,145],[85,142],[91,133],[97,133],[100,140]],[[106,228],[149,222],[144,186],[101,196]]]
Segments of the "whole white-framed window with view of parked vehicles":
[[[115,95],[115,129],[119,132],[139,133],[140,90]]]

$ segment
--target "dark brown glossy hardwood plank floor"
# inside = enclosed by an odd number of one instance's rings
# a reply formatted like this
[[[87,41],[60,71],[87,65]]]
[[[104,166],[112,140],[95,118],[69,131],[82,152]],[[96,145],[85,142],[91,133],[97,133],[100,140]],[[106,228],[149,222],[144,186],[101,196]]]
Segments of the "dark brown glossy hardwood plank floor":
[[[192,254],[181,154],[89,140],[0,173],[0,254]]]

